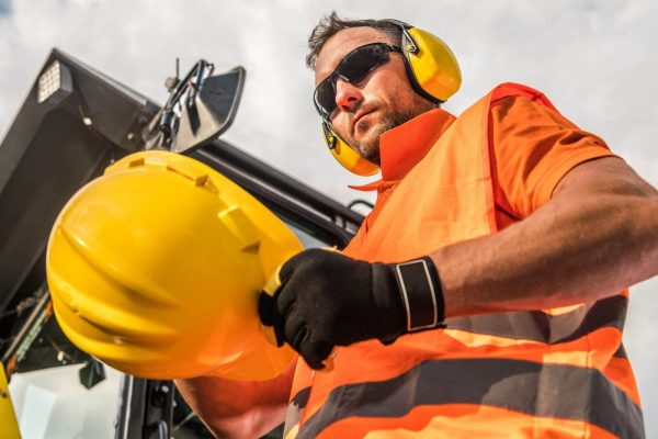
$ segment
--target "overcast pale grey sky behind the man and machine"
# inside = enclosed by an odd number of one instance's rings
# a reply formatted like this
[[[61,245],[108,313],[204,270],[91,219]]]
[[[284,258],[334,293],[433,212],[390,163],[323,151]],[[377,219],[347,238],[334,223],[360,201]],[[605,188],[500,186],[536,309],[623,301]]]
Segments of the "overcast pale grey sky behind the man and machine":
[[[158,102],[177,56],[183,71],[198,58],[219,71],[242,65],[242,103],[224,138],[347,203],[362,196],[347,184],[367,180],[325,149],[304,67],[308,33],[332,9],[397,18],[447,42],[464,76],[449,111],[460,113],[499,82],[527,83],[658,185],[654,0],[0,0],[0,132],[53,46]],[[647,437],[658,437],[657,289],[658,279],[632,289],[625,335]]]

